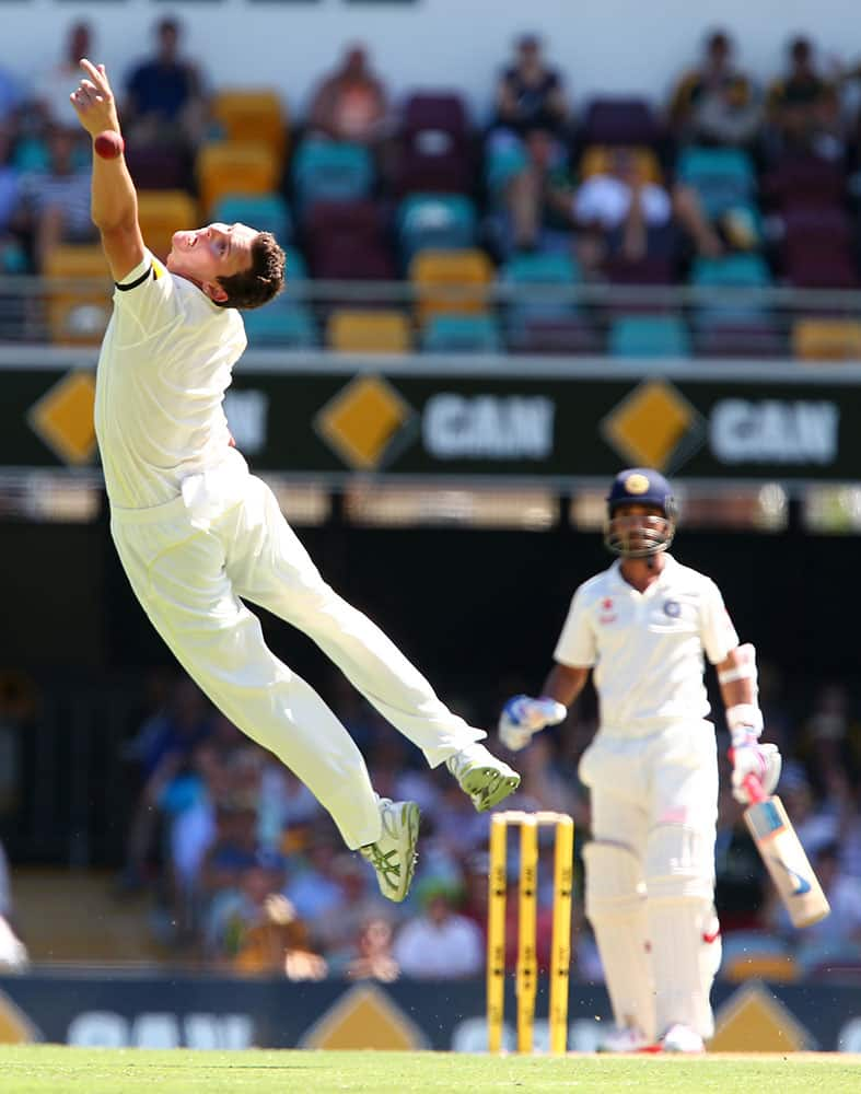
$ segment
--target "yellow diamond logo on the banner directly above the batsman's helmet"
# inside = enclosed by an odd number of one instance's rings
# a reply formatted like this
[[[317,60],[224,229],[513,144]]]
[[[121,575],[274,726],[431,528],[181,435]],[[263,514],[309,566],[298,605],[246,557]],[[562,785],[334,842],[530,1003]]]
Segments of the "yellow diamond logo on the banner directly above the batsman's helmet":
[[[645,380],[604,418],[601,432],[624,459],[670,470],[702,444],[706,423],[672,384]]]

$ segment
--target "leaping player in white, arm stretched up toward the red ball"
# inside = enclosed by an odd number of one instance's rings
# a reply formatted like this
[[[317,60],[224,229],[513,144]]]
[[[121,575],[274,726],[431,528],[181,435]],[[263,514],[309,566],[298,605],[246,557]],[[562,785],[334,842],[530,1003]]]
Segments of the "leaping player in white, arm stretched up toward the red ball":
[[[104,66],[82,60],[70,98],[95,140],[119,133]],[[245,349],[237,309],[283,282],[283,252],[246,224],[177,232],[165,265],[146,248],[121,153],[93,155],[92,218],[116,283],[98,358],[95,426],[114,543],[135,593],[177,661],[249,737],[271,749],[403,900],[419,810],[379,799],[354,742],[319,696],[264,643],[243,603],[309,635],[475,807],[520,782],[360,612],[322,579],[274,494],[231,446],[222,409]]]

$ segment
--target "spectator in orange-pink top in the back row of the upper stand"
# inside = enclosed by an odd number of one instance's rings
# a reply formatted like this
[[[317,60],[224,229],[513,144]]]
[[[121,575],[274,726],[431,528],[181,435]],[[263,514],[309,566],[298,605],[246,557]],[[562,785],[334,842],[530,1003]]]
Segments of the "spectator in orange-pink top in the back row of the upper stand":
[[[385,136],[388,102],[371,71],[363,46],[350,46],[344,60],[314,92],[309,125],[333,140],[374,144]]]

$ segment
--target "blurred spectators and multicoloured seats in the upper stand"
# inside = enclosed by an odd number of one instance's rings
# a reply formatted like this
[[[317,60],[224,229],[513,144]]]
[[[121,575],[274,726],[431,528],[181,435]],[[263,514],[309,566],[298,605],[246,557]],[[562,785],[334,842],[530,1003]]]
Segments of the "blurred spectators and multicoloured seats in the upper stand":
[[[8,274],[75,274],[74,251],[93,244],[90,153],[68,104],[77,58],[98,53],[92,28],[74,24],[59,53],[30,88],[0,70]],[[760,86],[713,31],[656,103],[578,100],[577,72],[561,61],[524,34],[491,117],[477,118],[455,93],[393,102],[354,45],[290,117],[274,89],[210,86],[184,58],[182,25],[164,18],[152,56],[114,73],[144,235],[163,253],[184,218],[242,219],[286,242],[293,286],[414,286],[411,311],[345,310],[337,294],[312,309],[288,292],[248,316],[253,346],[857,354],[851,322],[805,327],[802,314],[790,331],[757,291],[859,286],[861,70],[826,65],[795,37]],[[66,265],[50,260],[60,244]],[[621,295],[598,314],[587,304],[600,298],[578,299],[583,286],[672,284],[695,290],[685,309]],[[708,302],[725,288],[743,292]]]

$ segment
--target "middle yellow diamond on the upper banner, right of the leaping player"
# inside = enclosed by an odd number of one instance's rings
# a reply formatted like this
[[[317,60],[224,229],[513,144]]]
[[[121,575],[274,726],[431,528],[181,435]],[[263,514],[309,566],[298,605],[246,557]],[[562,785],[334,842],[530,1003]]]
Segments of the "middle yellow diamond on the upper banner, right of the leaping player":
[[[351,467],[373,470],[391,458],[412,408],[381,376],[357,376],[317,415],[323,438]]]

